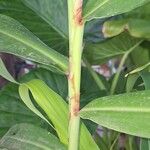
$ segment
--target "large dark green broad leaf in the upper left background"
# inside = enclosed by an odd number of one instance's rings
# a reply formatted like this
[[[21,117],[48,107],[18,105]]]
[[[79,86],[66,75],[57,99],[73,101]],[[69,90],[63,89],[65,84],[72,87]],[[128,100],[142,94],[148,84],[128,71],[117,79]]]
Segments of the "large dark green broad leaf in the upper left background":
[[[32,8],[30,9],[28,8],[28,6],[24,4],[25,1],[0,0],[0,13],[16,19],[22,25],[24,25],[27,29],[29,29],[32,33],[34,33],[37,37],[39,37],[40,40],[42,40],[49,47],[57,50],[61,54],[67,55],[68,54],[68,51],[67,51],[68,50],[68,38],[66,39],[63,35],[60,34],[60,32],[58,33],[57,30],[55,30],[56,24],[54,21],[52,22],[52,24],[49,23],[49,21],[52,21],[54,18],[57,18],[57,23],[59,23],[60,26],[62,26],[62,24],[63,25],[66,24],[63,26],[63,29],[62,29],[63,31],[64,29],[66,30],[68,24],[66,23],[67,15],[65,15],[64,11],[66,11],[67,13],[67,10],[61,8],[61,4],[62,4],[61,2],[60,3],[55,2],[53,3],[53,5],[51,5],[51,3],[47,4],[46,0],[39,1],[39,3],[40,2],[43,3],[43,5],[41,6],[40,9],[38,9],[38,7],[40,7],[38,4],[35,5],[34,7],[37,7],[37,8],[36,8],[36,11],[34,12],[31,10]],[[32,3],[34,2],[28,1],[28,3],[32,5]],[[57,13],[55,9],[49,10],[49,7],[53,7],[54,5],[55,7],[57,7],[57,9],[59,9]],[[43,15],[47,16],[46,10],[49,13],[52,13],[52,15],[48,14],[48,17],[43,17]],[[44,14],[42,13],[41,15],[40,13],[41,11],[42,12],[46,11],[46,12],[44,12]],[[61,29],[58,28],[58,30],[61,30]],[[67,33],[65,33],[65,35],[67,35]]]

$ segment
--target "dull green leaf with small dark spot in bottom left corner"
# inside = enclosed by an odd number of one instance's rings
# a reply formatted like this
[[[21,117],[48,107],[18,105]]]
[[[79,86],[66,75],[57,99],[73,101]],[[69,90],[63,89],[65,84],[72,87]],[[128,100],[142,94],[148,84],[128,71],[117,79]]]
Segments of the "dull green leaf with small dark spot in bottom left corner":
[[[30,124],[13,126],[0,140],[0,149],[67,150],[50,132]]]

